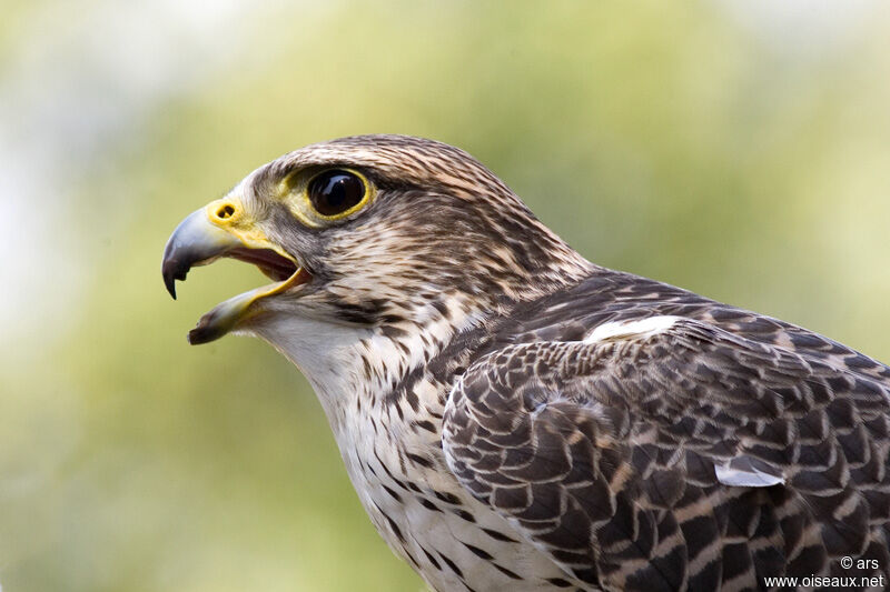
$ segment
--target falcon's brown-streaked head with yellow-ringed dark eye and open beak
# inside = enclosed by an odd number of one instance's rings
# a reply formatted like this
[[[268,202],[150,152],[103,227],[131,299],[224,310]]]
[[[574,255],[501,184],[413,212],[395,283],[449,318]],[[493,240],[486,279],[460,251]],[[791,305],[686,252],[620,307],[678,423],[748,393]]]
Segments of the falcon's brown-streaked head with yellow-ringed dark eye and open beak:
[[[296,333],[303,348],[334,339],[330,327],[396,333],[496,311],[590,269],[469,154],[398,136],[290,152],[194,212],[164,253],[170,294],[192,267],[222,257],[276,283],[205,314],[192,344],[231,331],[285,350]]]

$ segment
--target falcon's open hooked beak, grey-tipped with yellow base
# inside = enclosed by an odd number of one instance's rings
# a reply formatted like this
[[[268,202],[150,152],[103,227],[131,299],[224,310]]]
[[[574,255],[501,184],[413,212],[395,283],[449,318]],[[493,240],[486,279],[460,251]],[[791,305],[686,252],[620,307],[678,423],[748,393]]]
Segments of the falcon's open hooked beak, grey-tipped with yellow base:
[[[161,262],[167,291],[176,299],[176,280],[185,280],[191,268],[220,257],[253,263],[276,283],[230,298],[201,317],[188,333],[192,345],[221,338],[257,311],[257,301],[312,279],[290,254],[266,238],[237,200],[222,199],[191,213],[174,230]]]

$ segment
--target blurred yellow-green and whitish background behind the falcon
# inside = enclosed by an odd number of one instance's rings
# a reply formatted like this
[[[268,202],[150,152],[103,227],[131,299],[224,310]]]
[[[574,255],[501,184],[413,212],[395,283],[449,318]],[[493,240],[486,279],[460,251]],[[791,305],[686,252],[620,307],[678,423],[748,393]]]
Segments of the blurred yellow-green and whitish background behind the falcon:
[[[890,360],[880,1],[8,0],[0,583],[417,591],[271,348],[189,348],[264,280],[159,272],[188,212],[306,143],[488,164],[590,259]]]

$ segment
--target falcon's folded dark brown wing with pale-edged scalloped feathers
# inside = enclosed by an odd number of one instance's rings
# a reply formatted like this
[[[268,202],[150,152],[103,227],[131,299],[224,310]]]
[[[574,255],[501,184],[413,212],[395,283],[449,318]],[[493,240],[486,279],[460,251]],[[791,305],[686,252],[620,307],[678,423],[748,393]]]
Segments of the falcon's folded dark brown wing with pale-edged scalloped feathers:
[[[461,483],[591,586],[888,573],[887,383],[699,320],[635,329],[473,363],[444,418]]]

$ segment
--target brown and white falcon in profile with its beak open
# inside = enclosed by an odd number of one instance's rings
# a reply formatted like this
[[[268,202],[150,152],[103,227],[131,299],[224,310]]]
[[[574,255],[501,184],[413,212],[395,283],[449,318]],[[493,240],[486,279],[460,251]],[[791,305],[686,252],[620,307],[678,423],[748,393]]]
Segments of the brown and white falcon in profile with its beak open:
[[[591,263],[462,150],[285,154],[175,230],[170,294],[219,258],[273,283],[189,341],[256,335],[306,375],[433,590],[887,585],[890,368]]]

